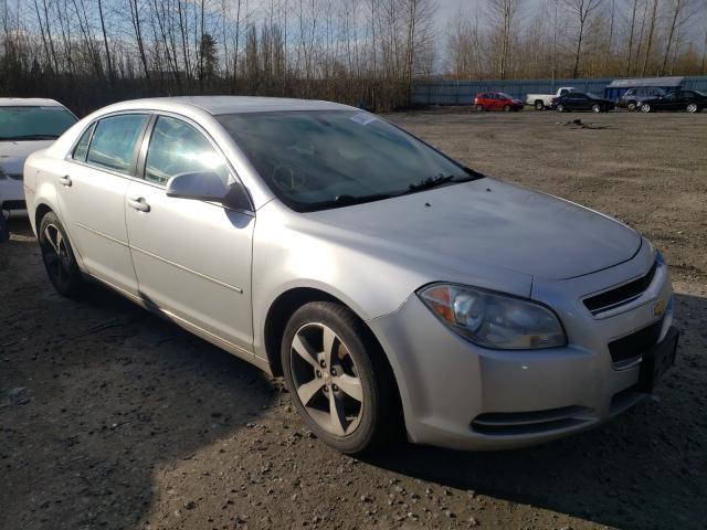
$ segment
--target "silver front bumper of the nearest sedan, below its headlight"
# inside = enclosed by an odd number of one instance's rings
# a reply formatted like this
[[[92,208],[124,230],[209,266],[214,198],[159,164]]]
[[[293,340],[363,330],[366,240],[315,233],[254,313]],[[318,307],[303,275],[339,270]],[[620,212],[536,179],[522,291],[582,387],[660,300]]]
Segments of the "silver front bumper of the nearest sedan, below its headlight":
[[[644,262],[641,257],[634,261]],[[630,266],[636,264],[619,267]],[[614,273],[597,273],[584,283],[601,276],[613,278]],[[581,279],[558,282],[564,285],[556,288],[570,293],[579,288],[581,293]],[[536,299],[552,298],[548,286],[540,290]],[[671,296],[663,264],[646,289],[646,299],[636,300],[623,312],[598,319],[581,306],[579,297],[571,308],[553,305],[561,317],[571,312],[562,318],[569,344],[547,350],[479,348],[447,329],[414,295],[394,314],[369,325],[389,353],[412,442],[505,449],[591,428],[645,396],[639,388],[642,359],[618,369],[608,344],[659,319],[665,322],[659,342],[669,340],[672,315],[656,317],[653,311],[656,299]]]

